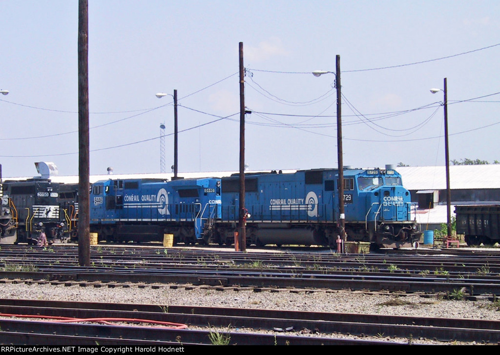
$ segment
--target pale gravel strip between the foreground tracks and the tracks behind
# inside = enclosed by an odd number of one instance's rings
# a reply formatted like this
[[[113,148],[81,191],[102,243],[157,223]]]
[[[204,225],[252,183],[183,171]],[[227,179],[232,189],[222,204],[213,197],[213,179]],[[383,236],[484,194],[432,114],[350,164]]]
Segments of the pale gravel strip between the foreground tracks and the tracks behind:
[[[394,294],[360,291],[253,292],[251,289],[223,291],[194,289],[130,287],[81,287],[51,284],[0,283],[0,297],[62,301],[117,302],[158,305],[188,305],[282,309],[316,312],[411,315],[419,317],[500,320],[500,311],[488,299],[475,301],[422,297],[418,294]],[[244,329],[248,331],[248,329]],[[323,334],[325,335],[325,334]],[[383,334],[379,334],[379,338]],[[342,336],[339,334],[328,336]],[[397,340],[397,339],[391,339]],[[405,339],[402,339],[404,341]],[[412,339],[414,343],[443,343],[432,339]],[[450,342],[457,343],[457,342]]]

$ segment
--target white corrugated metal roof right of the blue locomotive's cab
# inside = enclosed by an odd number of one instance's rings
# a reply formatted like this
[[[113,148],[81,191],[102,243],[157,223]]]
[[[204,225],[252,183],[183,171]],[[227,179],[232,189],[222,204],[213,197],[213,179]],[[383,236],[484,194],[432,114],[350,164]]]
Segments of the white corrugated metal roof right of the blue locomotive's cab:
[[[446,189],[445,166],[401,166],[396,171],[402,176],[408,190]],[[500,164],[451,165],[451,189],[500,188]]]

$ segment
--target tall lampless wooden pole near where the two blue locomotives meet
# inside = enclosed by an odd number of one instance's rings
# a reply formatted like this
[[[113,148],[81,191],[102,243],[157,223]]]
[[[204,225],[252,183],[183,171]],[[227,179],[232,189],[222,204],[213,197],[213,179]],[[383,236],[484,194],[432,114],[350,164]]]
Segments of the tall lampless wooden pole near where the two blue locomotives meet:
[[[239,42],[239,219],[238,248],[246,251],[246,210],[245,210],[245,86],[243,66],[243,42]]]

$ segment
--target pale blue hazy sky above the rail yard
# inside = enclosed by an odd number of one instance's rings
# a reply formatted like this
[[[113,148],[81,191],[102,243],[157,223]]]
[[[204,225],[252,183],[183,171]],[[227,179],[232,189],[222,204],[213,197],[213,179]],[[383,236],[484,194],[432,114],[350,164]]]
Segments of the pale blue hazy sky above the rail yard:
[[[336,54],[345,165],[443,165],[443,95],[429,89],[444,77],[450,158],[500,160],[500,94],[470,100],[500,92],[499,10],[496,0],[89,0],[90,173],[159,172],[159,124],[173,132],[173,106],[154,93],[173,89],[179,130],[234,114],[179,133],[179,171],[237,170],[240,41],[252,170],[336,167],[334,76],[308,73],[334,71]],[[3,176],[33,176],[34,161],[77,174],[78,2],[0,0],[0,23]],[[387,66],[397,67],[356,71]],[[165,145],[169,167],[172,135]]]

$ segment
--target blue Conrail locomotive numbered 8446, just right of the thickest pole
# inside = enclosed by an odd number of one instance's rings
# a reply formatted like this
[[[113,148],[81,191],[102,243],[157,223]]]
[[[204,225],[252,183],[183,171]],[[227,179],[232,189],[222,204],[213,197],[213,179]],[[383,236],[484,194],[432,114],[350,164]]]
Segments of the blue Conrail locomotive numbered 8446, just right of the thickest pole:
[[[166,233],[175,242],[204,242],[220,219],[220,195],[219,178],[97,181],[90,231],[107,241],[158,241]]]

